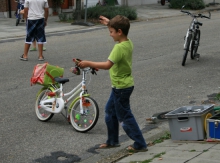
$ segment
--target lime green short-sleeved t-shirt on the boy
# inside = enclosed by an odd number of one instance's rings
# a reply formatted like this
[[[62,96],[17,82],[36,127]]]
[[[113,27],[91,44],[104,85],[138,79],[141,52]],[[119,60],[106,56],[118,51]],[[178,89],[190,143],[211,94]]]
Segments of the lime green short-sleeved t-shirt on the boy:
[[[108,60],[114,63],[109,70],[112,87],[117,89],[128,88],[134,85],[132,77],[133,43],[129,39],[115,44]]]

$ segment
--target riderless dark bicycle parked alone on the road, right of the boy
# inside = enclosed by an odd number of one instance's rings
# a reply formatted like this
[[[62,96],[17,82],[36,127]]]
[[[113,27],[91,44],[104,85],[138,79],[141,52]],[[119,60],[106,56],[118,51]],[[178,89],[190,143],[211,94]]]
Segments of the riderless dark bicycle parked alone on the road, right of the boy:
[[[196,58],[197,60],[199,60],[199,57],[200,57],[200,54],[197,53],[197,50],[199,47],[199,41],[200,41],[200,35],[201,35],[199,26],[202,26],[202,23],[200,23],[197,18],[211,19],[210,12],[209,12],[209,17],[202,15],[202,14],[194,15],[190,13],[189,11],[184,11],[183,10],[184,7],[185,6],[182,7],[181,12],[191,16],[193,19],[187,30],[186,36],[184,37],[185,43],[184,43],[184,54],[183,54],[182,66],[185,66],[188,51],[191,52],[191,59]]]

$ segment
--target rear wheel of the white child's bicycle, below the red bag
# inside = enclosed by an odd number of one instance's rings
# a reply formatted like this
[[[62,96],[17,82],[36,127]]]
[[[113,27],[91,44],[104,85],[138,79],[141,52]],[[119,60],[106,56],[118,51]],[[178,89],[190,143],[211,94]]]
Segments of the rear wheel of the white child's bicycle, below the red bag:
[[[54,113],[50,113],[50,112],[38,107],[40,104],[40,101],[42,99],[48,98],[47,94],[49,92],[51,92],[51,90],[49,90],[49,89],[41,91],[40,94],[38,95],[36,103],[35,103],[35,113],[37,115],[37,118],[42,122],[49,121],[54,115]]]

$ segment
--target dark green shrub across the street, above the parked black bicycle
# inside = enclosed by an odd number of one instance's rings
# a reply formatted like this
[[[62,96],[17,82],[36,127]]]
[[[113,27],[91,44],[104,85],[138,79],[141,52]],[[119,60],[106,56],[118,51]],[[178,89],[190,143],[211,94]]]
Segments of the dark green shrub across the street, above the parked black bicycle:
[[[180,9],[185,5],[185,9],[199,10],[205,8],[204,0],[170,0],[169,7]]]

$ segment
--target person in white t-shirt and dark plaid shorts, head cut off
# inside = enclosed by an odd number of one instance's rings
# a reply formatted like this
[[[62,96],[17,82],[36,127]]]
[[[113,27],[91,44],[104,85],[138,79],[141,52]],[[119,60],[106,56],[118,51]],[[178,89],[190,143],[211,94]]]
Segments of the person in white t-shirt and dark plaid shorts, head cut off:
[[[28,61],[28,51],[32,42],[36,39],[38,43],[38,60],[44,61],[43,44],[46,43],[45,26],[49,15],[47,0],[25,0],[24,18],[26,19],[26,38],[24,54],[20,60]]]

